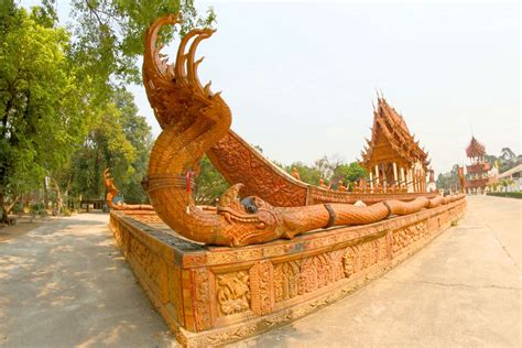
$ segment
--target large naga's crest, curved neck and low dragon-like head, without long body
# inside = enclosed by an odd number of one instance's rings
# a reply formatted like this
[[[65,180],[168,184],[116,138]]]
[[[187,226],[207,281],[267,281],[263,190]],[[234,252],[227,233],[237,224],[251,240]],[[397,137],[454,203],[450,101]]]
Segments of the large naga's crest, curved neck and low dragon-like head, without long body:
[[[146,188],[160,217],[191,239],[240,246],[272,240],[279,235],[276,210],[259,197],[243,203],[236,184],[219,198],[217,208],[199,207],[192,197],[187,173],[229,130],[231,112],[220,94],[199,81],[196,59],[198,44],[213,35],[196,29],[182,37],[176,62],[170,64],[156,45],[162,25],[176,24],[176,15],[157,19],[146,32],[143,80],[149,101],[163,129],[151,153]],[[188,47],[188,48],[187,48]]]

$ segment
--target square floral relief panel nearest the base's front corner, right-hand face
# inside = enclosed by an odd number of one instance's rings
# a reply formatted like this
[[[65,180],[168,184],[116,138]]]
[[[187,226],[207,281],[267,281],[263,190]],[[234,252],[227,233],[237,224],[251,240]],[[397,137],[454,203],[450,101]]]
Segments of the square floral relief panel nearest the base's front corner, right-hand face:
[[[217,302],[220,316],[249,309],[249,278],[247,271],[217,275]]]

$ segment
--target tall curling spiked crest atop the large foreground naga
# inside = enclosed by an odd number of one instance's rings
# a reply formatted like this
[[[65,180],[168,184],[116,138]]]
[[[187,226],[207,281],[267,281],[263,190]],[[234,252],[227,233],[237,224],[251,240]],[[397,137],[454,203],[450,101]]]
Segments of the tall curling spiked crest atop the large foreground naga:
[[[196,59],[196,50],[215,30],[194,29],[181,40],[176,62],[161,53],[157,34],[163,25],[181,23],[176,14],[155,20],[145,33],[143,83],[149,101],[160,126],[175,131],[176,137],[193,146],[187,160],[195,161],[219,141],[229,130],[231,112],[219,93],[210,90],[210,81],[203,85],[197,68],[203,57]],[[188,164],[187,164],[188,165]],[[192,165],[192,163],[189,164]]]

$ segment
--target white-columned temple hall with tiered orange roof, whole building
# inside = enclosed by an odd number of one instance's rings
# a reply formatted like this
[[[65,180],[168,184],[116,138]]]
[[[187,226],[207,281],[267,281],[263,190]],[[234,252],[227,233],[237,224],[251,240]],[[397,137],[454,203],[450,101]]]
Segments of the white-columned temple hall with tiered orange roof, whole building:
[[[371,140],[367,143],[360,164],[370,173],[373,192],[426,192],[427,153],[410,133],[403,117],[382,97],[373,108]]]

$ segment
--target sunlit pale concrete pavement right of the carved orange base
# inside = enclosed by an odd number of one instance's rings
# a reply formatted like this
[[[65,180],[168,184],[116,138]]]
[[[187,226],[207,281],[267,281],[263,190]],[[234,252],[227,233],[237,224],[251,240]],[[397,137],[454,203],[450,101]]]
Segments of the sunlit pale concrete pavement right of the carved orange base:
[[[468,213],[383,278],[236,347],[520,347],[522,200]]]

